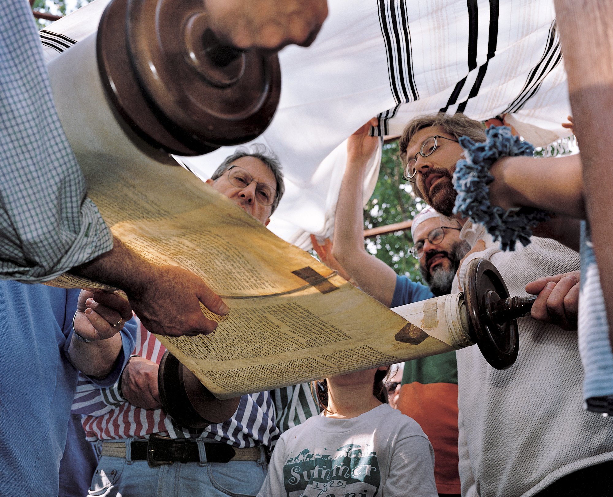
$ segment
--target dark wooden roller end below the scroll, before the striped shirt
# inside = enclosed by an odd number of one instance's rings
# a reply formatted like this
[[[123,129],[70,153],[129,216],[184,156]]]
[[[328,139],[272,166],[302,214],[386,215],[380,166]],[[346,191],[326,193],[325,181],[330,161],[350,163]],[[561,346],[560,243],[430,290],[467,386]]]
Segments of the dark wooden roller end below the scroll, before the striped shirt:
[[[223,423],[240,403],[240,397],[219,400],[169,351],[159,363],[158,389],[166,414],[187,428],[201,430]]]

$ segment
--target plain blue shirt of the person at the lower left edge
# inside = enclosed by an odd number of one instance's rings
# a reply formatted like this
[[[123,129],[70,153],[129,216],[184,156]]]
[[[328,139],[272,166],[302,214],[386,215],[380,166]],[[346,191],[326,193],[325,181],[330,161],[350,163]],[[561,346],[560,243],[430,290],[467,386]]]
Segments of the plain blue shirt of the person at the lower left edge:
[[[78,371],[66,357],[80,290],[0,281],[0,495],[58,495],[58,470]],[[101,386],[134,349],[136,322]]]

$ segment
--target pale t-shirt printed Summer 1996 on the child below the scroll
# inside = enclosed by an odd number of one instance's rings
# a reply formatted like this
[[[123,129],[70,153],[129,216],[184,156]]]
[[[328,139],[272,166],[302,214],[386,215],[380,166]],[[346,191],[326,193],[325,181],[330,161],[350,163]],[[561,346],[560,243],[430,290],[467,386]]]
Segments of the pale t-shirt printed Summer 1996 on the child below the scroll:
[[[382,404],[323,414],[281,435],[258,497],[436,497],[434,451],[417,422]]]

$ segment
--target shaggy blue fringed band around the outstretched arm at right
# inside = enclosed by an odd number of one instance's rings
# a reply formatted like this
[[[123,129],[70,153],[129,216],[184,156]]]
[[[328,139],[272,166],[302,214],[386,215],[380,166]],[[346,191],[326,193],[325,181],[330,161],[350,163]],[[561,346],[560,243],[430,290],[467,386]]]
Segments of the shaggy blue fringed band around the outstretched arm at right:
[[[504,211],[490,203],[488,184],[494,177],[490,167],[502,157],[531,156],[534,147],[512,135],[507,126],[490,126],[485,130],[484,143],[475,143],[470,138],[460,137],[460,145],[466,159],[455,165],[454,188],[458,195],[455,199],[454,213],[485,226],[494,241],[500,240],[502,250],[515,250],[515,243],[524,246],[530,243],[532,228],[539,222],[547,221],[551,214],[530,207],[514,208]]]

